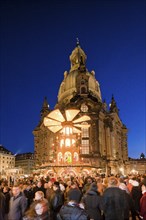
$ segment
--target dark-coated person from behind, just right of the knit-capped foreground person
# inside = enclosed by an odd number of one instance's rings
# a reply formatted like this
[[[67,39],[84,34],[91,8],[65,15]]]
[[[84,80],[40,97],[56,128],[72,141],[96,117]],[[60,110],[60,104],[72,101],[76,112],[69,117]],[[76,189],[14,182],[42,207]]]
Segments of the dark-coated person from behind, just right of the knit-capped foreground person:
[[[82,198],[82,202],[85,205],[85,209],[90,219],[94,219],[94,220],[101,219],[101,210],[100,210],[101,196],[97,190],[97,184],[95,182],[93,182],[90,185],[89,190],[85,193],[85,195]]]

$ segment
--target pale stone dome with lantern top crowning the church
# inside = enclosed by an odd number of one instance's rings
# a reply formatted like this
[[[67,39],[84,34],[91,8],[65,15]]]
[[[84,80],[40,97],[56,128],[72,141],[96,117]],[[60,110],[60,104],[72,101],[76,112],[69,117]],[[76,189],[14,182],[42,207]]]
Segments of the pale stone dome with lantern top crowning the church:
[[[101,100],[101,92],[98,81],[95,79],[95,72],[86,69],[87,56],[77,44],[70,55],[71,68],[64,72],[64,79],[58,92],[58,103],[69,103],[75,95],[91,94]],[[84,90],[84,92],[82,92]]]

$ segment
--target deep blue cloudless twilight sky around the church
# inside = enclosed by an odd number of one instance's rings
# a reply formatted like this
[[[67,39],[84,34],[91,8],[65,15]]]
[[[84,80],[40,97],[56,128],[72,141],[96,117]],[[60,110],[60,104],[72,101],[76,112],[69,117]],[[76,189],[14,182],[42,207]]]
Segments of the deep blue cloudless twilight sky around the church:
[[[76,38],[102,99],[112,94],[128,128],[129,157],[146,155],[144,0],[1,0],[0,144],[33,152],[32,131],[47,97],[57,101]]]

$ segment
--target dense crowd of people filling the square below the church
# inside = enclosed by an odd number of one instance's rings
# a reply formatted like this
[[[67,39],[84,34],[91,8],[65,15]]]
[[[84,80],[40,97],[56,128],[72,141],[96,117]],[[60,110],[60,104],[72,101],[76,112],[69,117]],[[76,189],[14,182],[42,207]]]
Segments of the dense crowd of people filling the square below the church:
[[[146,175],[0,180],[0,220],[146,220]]]

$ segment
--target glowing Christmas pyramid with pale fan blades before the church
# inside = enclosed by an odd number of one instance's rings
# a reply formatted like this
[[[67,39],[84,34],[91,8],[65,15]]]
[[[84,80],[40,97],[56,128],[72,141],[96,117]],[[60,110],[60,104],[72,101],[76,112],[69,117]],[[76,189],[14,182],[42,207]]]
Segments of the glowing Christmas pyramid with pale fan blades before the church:
[[[59,132],[59,146],[57,149],[57,161],[62,163],[72,163],[79,161],[79,146],[76,140],[81,133],[81,128],[89,128],[90,125],[84,123],[90,120],[87,115],[76,118],[80,110],[67,109],[65,116],[59,109],[50,112],[44,118],[44,125],[53,133]],[[76,119],[75,119],[76,118]]]

